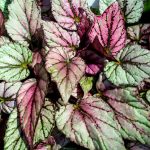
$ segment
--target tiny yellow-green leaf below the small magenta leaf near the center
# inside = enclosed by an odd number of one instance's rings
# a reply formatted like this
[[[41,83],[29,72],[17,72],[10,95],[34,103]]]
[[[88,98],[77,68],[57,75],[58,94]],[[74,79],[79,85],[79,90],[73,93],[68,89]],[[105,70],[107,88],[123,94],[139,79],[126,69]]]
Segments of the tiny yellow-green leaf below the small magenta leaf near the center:
[[[83,76],[80,80],[80,86],[82,87],[84,94],[87,94],[92,89],[93,77]]]

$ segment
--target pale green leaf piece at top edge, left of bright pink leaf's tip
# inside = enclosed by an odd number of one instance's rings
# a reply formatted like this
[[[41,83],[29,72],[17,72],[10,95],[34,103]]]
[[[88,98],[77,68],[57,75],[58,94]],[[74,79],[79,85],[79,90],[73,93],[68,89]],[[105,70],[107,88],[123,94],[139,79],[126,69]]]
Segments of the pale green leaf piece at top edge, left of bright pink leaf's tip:
[[[112,5],[116,0],[99,0],[99,11],[100,14],[103,14],[104,11]]]

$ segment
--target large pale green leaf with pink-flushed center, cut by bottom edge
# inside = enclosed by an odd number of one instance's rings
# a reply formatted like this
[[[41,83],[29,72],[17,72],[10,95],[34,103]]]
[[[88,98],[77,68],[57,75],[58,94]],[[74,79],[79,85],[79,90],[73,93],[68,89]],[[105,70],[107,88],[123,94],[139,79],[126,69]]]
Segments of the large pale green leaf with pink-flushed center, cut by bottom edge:
[[[61,106],[56,125],[71,141],[91,150],[125,150],[113,110],[102,99],[88,97]]]

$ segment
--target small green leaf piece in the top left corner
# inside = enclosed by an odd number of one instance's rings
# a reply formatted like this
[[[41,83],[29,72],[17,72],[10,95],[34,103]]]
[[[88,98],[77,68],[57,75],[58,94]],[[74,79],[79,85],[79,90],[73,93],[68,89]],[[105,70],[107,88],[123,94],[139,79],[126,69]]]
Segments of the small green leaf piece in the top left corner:
[[[1,0],[0,1],[0,9],[4,13],[6,17],[8,17],[8,5],[12,2],[12,0]]]

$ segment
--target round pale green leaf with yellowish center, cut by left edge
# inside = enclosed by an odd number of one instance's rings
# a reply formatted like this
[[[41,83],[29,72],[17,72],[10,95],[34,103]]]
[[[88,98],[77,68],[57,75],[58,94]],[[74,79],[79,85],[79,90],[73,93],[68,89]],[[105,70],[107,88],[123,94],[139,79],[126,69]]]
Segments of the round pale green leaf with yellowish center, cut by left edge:
[[[29,76],[32,53],[23,45],[8,43],[0,47],[0,80],[20,81]]]

